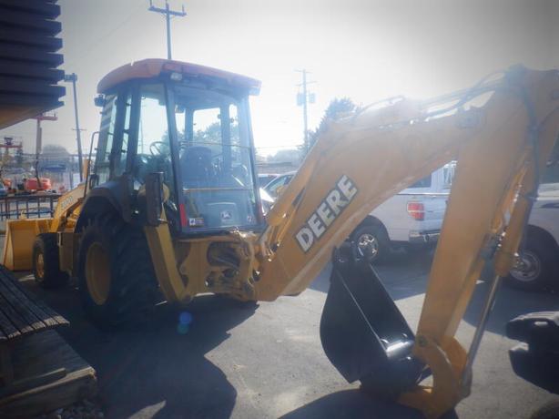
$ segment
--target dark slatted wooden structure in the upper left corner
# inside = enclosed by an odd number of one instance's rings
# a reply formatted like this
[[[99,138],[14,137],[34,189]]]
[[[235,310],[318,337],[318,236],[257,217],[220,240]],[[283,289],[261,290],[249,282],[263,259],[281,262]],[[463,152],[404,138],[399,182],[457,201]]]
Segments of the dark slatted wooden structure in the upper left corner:
[[[63,105],[59,15],[56,0],[0,0],[0,128]]]

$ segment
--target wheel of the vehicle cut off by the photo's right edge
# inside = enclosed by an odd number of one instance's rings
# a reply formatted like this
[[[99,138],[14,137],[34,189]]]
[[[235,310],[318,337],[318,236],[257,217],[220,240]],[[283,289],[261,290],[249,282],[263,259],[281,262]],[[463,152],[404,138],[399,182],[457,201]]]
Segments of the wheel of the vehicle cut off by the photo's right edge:
[[[556,245],[545,234],[528,230],[524,248],[506,281],[514,288],[538,291],[552,285],[559,273],[559,255]]]

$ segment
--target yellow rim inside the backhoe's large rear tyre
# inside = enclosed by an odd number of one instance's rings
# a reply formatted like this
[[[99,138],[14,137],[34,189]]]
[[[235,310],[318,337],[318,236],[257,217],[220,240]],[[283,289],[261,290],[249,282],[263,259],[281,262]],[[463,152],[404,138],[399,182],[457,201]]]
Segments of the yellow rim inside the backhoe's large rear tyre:
[[[86,256],[86,283],[91,299],[103,305],[108,298],[111,274],[107,251],[99,242],[89,246]]]

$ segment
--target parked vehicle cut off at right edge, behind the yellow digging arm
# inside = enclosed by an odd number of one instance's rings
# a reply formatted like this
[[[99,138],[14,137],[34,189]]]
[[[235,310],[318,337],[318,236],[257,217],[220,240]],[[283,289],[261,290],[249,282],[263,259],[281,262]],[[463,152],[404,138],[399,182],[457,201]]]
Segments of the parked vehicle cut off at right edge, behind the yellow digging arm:
[[[559,289],[559,183],[543,184],[506,282],[523,290]]]

